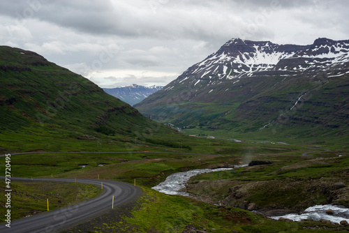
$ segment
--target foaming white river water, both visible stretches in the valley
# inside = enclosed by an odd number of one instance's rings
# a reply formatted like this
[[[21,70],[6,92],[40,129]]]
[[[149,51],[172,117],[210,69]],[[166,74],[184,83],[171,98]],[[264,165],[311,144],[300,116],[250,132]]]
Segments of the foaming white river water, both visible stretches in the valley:
[[[246,165],[242,165],[246,166]],[[242,167],[235,166],[235,167]],[[159,183],[157,186],[154,186],[154,190],[158,190],[161,193],[169,194],[169,195],[182,195],[188,196],[189,194],[186,192],[180,192],[182,188],[185,187],[186,182],[189,181],[191,176],[196,176],[197,174],[207,173],[207,172],[220,172],[225,170],[232,170],[232,168],[217,168],[217,169],[197,169],[191,170],[187,172],[177,172],[171,174],[166,178],[165,181]],[[332,209],[334,211],[333,215],[329,215],[326,213],[327,209]],[[269,218],[273,218],[278,220],[279,218],[288,218],[294,221],[302,221],[302,220],[315,220],[318,221],[321,218],[330,220],[332,223],[340,223],[341,220],[346,220],[349,223],[349,209],[344,206],[333,206],[330,204],[326,205],[318,205],[311,206],[305,210],[306,213],[297,214],[297,213],[289,213],[285,216],[271,216]]]

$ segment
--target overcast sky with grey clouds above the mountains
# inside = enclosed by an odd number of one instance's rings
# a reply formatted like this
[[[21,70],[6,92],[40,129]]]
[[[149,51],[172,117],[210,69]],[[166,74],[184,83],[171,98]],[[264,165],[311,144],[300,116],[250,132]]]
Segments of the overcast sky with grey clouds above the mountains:
[[[347,40],[348,10],[344,0],[1,0],[0,45],[100,87],[165,85],[230,38]]]

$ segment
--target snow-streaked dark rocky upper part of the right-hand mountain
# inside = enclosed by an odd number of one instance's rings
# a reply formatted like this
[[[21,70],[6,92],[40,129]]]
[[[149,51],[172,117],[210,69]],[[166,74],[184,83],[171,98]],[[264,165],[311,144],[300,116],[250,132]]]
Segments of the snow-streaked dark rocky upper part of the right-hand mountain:
[[[232,39],[204,61],[188,68],[164,90],[170,90],[177,84],[193,83],[196,86],[203,80],[211,80],[209,84],[223,80],[238,82],[241,77],[260,75],[261,72],[292,75],[299,72],[330,70],[348,62],[348,52],[349,40],[319,38],[313,45],[302,46]],[[184,82],[185,80],[189,82]]]

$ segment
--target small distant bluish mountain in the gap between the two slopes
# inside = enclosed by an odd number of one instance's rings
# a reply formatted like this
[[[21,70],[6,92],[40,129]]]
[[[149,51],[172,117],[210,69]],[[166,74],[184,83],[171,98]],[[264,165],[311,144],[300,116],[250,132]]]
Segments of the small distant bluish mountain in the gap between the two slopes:
[[[136,103],[140,103],[140,101],[147,98],[152,93],[160,90],[163,87],[151,86],[151,87],[143,87],[137,84],[132,84],[132,86],[123,86],[123,87],[115,87],[115,88],[103,88],[103,90],[110,94],[111,96],[117,97],[120,100],[128,103],[129,105],[135,105]]]

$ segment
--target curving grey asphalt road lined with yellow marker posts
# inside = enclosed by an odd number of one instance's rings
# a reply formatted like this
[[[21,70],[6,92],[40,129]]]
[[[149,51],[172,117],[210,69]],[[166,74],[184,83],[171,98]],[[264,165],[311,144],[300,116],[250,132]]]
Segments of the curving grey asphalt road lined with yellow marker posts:
[[[4,176],[0,176],[4,179]],[[13,178],[11,181],[31,181],[28,178]],[[38,178],[34,181],[64,181],[75,182],[75,179],[52,179],[52,178]],[[1,233],[36,233],[36,232],[59,232],[66,228],[82,223],[98,216],[103,211],[112,209],[112,196],[114,195],[114,208],[121,204],[126,204],[138,199],[142,193],[141,188],[133,186],[129,183],[119,181],[107,181],[98,179],[77,179],[79,183],[90,183],[101,186],[103,182],[104,192],[98,197],[91,200],[80,202],[78,204],[67,206],[54,211],[48,211],[36,216],[22,218],[11,222],[10,228],[5,224],[0,225]]]

